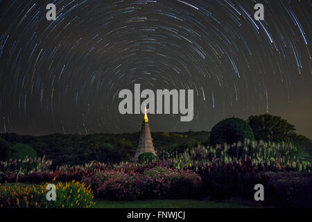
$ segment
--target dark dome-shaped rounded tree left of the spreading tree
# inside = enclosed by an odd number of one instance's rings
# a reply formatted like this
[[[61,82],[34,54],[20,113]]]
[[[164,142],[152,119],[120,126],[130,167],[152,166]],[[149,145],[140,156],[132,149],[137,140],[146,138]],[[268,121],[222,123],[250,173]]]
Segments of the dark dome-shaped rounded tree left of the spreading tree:
[[[254,140],[252,129],[243,119],[234,117],[220,121],[210,133],[211,146],[224,143],[234,144],[245,139]]]

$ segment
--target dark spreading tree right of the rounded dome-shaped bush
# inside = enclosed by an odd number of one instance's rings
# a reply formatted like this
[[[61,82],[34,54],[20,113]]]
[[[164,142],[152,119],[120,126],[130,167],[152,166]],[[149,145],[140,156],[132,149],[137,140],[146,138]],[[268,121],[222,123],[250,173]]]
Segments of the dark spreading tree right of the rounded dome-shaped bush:
[[[293,135],[295,131],[295,126],[288,123],[286,119],[281,119],[281,117],[272,116],[270,114],[251,116],[248,118],[248,123],[257,140],[290,142],[291,135]]]

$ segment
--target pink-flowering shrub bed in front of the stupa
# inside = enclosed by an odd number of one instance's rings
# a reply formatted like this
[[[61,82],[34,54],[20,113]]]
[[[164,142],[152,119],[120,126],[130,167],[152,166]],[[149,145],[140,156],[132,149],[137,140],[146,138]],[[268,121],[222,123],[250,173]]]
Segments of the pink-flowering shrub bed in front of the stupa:
[[[103,175],[100,175],[100,174]],[[107,200],[147,200],[193,197],[198,191],[200,176],[188,171],[173,171],[163,167],[141,173],[104,171],[83,178],[96,189],[96,196]]]

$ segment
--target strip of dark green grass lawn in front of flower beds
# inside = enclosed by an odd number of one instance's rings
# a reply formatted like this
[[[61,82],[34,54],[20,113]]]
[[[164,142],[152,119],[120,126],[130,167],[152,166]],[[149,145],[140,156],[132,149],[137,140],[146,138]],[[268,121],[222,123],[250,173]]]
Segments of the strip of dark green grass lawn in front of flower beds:
[[[132,200],[110,201],[96,199],[95,208],[241,208],[251,207],[235,200],[215,202],[211,200]]]

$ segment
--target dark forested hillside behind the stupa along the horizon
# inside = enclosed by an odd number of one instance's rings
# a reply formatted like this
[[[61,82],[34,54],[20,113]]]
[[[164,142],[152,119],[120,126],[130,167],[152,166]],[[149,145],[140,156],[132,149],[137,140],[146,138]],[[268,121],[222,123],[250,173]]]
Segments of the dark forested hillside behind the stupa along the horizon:
[[[198,144],[207,138],[207,135],[209,133],[205,131],[165,133],[164,135],[163,133],[152,133],[156,151],[171,150],[172,148],[173,151],[179,152]],[[52,167],[55,169],[64,163],[85,164],[92,160],[112,164],[131,161],[137,151],[139,132],[90,135],[55,133],[40,137],[4,133],[0,134],[0,138],[12,144],[28,144],[37,151],[38,156],[45,155],[48,160],[53,160]],[[171,147],[172,144],[177,144],[177,146]]]

